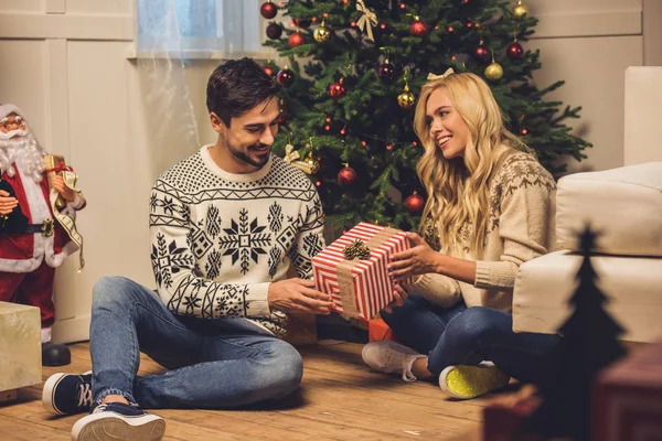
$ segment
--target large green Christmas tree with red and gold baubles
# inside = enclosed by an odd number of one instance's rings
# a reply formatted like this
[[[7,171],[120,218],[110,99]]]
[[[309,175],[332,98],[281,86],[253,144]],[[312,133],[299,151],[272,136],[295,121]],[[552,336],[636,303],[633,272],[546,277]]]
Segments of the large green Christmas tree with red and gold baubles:
[[[536,19],[521,1],[290,0],[260,12],[273,20],[266,44],[289,60],[265,66],[284,86],[275,151],[311,175],[332,224],[418,226],[426,195],[413,114],[429,73],[485,78],[508,128],[554,174],[559,158],[581,160],[590,146],[564,125],[579,107],[543,100],[563,82],[532,84],[540,52],[521,43]]]

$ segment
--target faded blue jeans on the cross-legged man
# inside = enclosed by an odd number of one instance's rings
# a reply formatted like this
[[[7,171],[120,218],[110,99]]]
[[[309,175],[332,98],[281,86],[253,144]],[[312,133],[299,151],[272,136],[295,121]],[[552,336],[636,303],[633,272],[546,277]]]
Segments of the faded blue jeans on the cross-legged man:
[[[142,408],[232,408],[285,397],[299,386],[301,356],[245,319],[173,315],[158,294],[121,277],[94,287],[92,391]],[[140,352],[170,369],[138,377]]]

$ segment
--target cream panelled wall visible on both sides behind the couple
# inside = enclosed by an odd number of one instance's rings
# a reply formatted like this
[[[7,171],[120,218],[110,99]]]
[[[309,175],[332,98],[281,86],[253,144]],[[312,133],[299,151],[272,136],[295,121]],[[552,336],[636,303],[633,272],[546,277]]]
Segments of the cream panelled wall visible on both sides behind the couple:
[[[589,159],[570,170],[623,162],[624,71],[643,64],[642,2],[659,13],[660,0],[526,0],[541,19],[536,40],[526,43],[542,51],[535,80],[567,82],[549,98],[583,106],[577,132],[595,143]],[[68,259],[56,276],[60,341],[87,337],[99,277],[153,286],[149,190],[159,164],[195,148],[172,152],[148,142],[153,129],[147,116],[159,109],[146,108],[136,61],[128,60],[132,8],[130,0],[0,0],[0,103],[24,110],[39,140],[76,169],[88,200],[78,220],[87,266],[76,275]],[[660,45],[647,45],[647,60],[660,60]],[[186,72],[203,142],[214,140],[204,88],[216,64],[195,62]]]

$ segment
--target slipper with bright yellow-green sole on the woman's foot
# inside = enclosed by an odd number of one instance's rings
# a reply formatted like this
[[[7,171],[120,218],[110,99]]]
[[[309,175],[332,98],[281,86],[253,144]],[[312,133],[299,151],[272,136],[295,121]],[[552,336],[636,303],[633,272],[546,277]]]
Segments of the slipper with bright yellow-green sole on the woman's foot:
[[[510,377],[496,366],[448,366],[439,375],[439,386],[455,398],[480,397],[504,387]]]

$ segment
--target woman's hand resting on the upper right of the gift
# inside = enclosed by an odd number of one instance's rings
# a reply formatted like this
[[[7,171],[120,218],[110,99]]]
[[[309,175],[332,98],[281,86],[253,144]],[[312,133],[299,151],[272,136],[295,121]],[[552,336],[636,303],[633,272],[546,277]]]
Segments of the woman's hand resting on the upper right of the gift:
[[[412,240],[414,247],[391,256],[391,263],[386,267],[388,275],[395,280],[403,280],[412,276],[439,272],[441,255],[430,248],[416,233],[407,233],[407,238]]]

